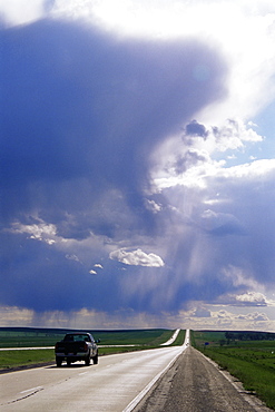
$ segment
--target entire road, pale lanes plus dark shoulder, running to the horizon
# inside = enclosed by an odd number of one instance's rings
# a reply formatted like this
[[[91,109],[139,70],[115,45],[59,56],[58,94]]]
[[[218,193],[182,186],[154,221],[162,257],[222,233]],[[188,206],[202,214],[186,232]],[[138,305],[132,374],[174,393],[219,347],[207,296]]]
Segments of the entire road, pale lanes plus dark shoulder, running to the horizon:
[[[181,346],[101,356],[90,366],[76,363],[11,372],[0,375],[0,388],[4,412],[269,411],[190,347],[189,330]]]

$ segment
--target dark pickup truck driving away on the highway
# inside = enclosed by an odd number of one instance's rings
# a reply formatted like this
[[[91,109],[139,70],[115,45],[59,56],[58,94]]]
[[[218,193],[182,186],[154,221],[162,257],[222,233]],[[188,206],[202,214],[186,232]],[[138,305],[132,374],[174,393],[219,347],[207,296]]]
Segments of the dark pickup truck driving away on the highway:
[[[97,364],[98,342],[89,333],[67,333],[65,339],[57,342],[55,346],[57,366],[60,367],[63,361],[67,362],[67,365],[77,361],[85,361],[85,364],[88,366],[91,359]]]

